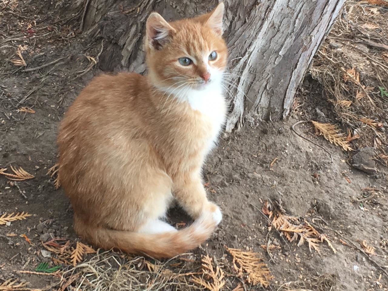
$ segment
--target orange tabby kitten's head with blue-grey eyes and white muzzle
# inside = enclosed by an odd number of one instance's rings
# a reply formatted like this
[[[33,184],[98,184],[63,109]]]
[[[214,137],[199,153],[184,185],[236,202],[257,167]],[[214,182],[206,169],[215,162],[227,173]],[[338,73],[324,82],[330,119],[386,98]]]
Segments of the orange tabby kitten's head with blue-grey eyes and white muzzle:
[[[220,3],[208,14],[170,23],[152,12],[147,19],[145,51],[156,87],[179,94],[220,85],[227,64],[223,12]]]

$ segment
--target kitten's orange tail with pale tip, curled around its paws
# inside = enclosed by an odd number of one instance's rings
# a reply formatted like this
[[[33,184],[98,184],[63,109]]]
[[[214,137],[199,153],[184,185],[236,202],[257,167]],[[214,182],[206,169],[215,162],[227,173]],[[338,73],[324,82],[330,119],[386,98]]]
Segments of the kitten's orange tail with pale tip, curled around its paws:
[[[204,212],[182,230],[148,234],[96,228],[82,223],[74,216],[74,229],[83,239],[99,248],[144,253],[153,258],[171,258],[206,241],[221,219],[221,211],[217,208],[214,212]]]

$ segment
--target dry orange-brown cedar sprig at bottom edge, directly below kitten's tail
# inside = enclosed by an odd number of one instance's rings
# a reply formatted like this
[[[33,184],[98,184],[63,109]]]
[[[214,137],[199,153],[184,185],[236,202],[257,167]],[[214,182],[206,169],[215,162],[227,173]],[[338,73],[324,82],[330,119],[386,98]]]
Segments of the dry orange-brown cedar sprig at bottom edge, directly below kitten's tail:
[[[212,259],[209,255],[202,257],[202,272],[204,274],[202,278],[192,276],[191,281],[203,286],[209,291],[220,291],[225,285],[223,270],[218,266],[214,270]],[[206,281],[204,280],[204,277],[206,278]],[[210,279],[212,282],[208,281]]]

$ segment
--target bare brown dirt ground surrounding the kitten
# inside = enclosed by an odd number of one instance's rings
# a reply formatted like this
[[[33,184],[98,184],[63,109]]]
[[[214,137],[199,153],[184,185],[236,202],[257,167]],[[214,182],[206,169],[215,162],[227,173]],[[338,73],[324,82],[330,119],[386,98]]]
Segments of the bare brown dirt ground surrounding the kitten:
[[[98,54],[100,41],[77,33],[76,12],[63,2],[57,7],[50,2],[45,7],[39,1],[8,2],[5,7],[7,1],[0,0],[0,168],[9,173],[11,165],[22,167],[35,178],[15,182],[0,175],[0,217],[32,214],[0,225],[0,290],[9,279],[26,283],[23,288],[58,290],[60,277],[24,271],[51,262],[42,242],[77,239],[68,200],[47,171],[57,162],[55,139],[64,112],[100,73],[90,59]],[[21,61],[18,49],[26,66],[12,62]],[[210,199],[222,208],[223,221],[192,258],[209,254],[225,274],[234,274],[225,246],[258,252],[274,277],[267,287],[271,290],[387,290],[387,168],[378,164],[374,174],[356,170],[340,147],[315,135],[311,123],[295,129],[326,148],[333,162],[322,148],[296,135],[291,126],[316,117],[315,107],[326,104],[318,83],[306,77],[303,84],[298,98],[305,102],[288,120],[247,123],[240,132],[222,135],[204,166],[204,182]],[[18,111],[21,107],[35,113]],[[325,110],[329,116],[329,105]],[[265,201],[277,201],[288,215],[308,221],[332,242],[336,253],[325,242],[318,253],[307,243],[286,241],[273,227],[268,230]],[[170,218],[187,222],[178,209]],[[362,241],[375,248],[374,255],[362,251]],[[236,276],[226,278],[225,290],[240,283]],[[241,290],[263,289],[242,282]],[[74,281],[62,290],[79,286]],[[175,289],[171,285],[163,290]]]

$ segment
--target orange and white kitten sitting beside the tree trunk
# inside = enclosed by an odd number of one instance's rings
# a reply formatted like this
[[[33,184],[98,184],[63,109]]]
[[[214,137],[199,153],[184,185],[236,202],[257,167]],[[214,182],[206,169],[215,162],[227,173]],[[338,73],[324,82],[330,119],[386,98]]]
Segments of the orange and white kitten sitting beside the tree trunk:
[[[201,168],[226,118],[224,5],[168,23],[152,12],[148,74],[95,77],[61,121],[59,179],[74,230],[90,244],[169,258],[196,248],[222,220]],[[175,199],[195,219],[166,223]]]

